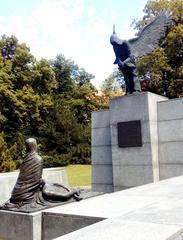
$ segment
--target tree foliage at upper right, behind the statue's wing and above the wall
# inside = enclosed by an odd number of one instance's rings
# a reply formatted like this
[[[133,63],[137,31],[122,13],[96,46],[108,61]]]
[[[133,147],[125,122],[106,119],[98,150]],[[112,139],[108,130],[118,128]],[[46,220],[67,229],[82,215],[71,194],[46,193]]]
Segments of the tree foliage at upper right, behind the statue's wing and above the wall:
[[[152,0],[144,8],[144,17],[134,21],[141,29],[158,12],[172,13],[172,24],[167,35],[160,40],[159,48],[138,59],[137,66],[141,78],[150,76],[149,90],[170,98],[183,96],[183,4],[182,0]]]

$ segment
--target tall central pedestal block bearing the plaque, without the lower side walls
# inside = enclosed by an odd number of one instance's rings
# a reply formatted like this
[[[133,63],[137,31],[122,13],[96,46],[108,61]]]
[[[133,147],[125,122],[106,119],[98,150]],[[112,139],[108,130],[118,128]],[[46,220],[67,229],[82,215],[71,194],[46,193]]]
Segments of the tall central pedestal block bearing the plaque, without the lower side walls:
[[[161,100],[165,98],[149,92],[111,100],[114,190],[159,180],[157,102]]]

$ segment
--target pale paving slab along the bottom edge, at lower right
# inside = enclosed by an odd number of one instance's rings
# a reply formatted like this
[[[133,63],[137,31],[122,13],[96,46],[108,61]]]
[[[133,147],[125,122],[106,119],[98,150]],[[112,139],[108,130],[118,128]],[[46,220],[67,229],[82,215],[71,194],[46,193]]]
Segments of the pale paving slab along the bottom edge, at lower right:
[[[181,233],[182,228],[176,225],[109,219],[55,240],[174,240]]]

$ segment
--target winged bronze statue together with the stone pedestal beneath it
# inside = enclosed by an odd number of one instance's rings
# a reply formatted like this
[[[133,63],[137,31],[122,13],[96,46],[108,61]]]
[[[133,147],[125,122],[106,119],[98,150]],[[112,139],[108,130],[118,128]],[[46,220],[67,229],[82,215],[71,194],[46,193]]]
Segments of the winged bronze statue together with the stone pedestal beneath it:
[[[166,33],[171,14],[160,12],[136,38],[121,40],[113,29],[110,43],[122,72],[126,95],[109,110],[92,115],[93,190],[111,192],[160,179],[158,103],[165,97],[140,92],[135,59],[151,53]],[[136,92],[136,93],[135,93]]]

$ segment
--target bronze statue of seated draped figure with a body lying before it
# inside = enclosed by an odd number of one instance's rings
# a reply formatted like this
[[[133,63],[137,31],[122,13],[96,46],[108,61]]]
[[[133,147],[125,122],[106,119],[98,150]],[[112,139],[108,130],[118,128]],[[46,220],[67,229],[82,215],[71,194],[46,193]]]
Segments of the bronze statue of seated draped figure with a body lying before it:
[[[81,200],[78,190],[71,190],[62,184],[46,183],[42,179],[43,160],[37,153],[34,138],[25,141],[27,154],[20,165],[20,172],[8,202],[0,209],[16,210],[23,206],[49,206],[49,202],[62,202],[74,198]]]

